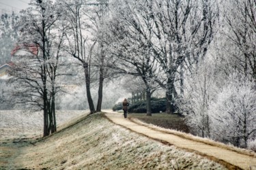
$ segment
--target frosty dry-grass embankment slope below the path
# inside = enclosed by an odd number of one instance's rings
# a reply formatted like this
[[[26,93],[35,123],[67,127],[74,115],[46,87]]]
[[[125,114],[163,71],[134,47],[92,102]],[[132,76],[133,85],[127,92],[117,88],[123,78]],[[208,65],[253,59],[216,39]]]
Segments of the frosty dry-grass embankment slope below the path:
[[[8,143],[0,147],[4,145]],[[224,169],[196,154],[123,129],[102,114],[16,149],[0,169]]]

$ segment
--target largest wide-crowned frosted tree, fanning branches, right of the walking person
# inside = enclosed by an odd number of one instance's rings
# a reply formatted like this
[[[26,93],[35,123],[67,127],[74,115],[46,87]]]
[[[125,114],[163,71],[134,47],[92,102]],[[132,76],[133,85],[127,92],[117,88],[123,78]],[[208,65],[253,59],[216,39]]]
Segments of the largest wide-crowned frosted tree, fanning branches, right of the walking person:
[[[149,63],[144,63],[150,68],[144,73],[149,73],[150,77],[144,77],[166,89],[167,113],[173,112],[177,96],[175,81],[180,80],[182,92],[184,70],[191,71],[205,56],[214,36],[218,4],[208,0],[125,1],[116,9],[119,18],[115,20],[119,22],[112,24],[116,27],[113,35],[126,41],[126,44],[115,42],[118,48],[126,49],[126,53],[123,50],[118,57],[123,56],[120,59],[125,62],[132,54],[151,57]],[[139,50],[141,52],[136,54]],[[143,63],[136,62],[137,58],[130,59],[132,65]],[[156,63],[160,67],[151,69]],[[162,75],[156,76],[155,71]]]

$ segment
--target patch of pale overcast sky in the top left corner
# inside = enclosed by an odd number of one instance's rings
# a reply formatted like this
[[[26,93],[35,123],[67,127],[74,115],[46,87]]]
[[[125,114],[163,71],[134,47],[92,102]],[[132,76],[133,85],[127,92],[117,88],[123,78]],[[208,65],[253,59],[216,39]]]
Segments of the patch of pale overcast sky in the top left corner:
[[[0,0],[0,13],[2,12],[19,12],[27,8],[29,5],[28,3],[31,0]]]

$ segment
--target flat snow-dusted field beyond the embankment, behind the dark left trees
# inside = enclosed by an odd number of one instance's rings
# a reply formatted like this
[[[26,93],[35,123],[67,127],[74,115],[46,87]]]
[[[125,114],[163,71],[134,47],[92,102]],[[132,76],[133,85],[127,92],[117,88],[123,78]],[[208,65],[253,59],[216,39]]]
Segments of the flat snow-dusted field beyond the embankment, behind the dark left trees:
[[[57,126],[86,112],[83,110],[57,111]],[[40,136],[43,134],[43,121],[43,112],[0,110],[0,139]]]

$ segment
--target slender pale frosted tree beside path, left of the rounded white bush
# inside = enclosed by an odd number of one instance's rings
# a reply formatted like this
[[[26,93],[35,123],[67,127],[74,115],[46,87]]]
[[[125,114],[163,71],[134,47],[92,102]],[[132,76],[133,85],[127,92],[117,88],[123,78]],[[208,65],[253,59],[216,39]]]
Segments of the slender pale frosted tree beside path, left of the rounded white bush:
[[[185,76],[184,93],[177,100],[179,111],[186,116],[186,123],[190,126],[191,132],[201,137],[211,135],[212,120],[208,110],[218,90],[213,63],[214,61],[207,58],[199,63],[198,69],[193,71],[192,75]]]

